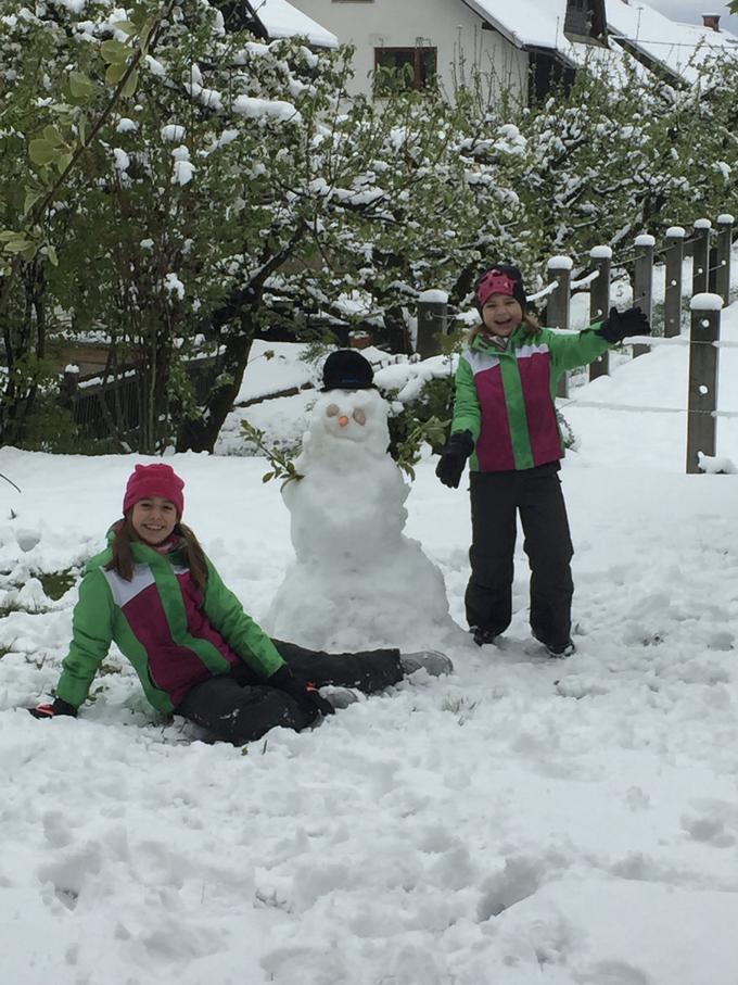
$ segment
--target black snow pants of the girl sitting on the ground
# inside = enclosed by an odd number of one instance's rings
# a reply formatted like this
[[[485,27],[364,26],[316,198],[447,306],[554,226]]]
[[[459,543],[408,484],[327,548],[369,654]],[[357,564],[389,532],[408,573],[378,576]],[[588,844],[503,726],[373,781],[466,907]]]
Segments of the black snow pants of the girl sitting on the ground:
[[[329,654],[281,640],[272,643],[301,680],[318,687],[339,684],[370,694],[403,678],[398,649]],[[175,712],[206,729],[214,738],[233,745],[259,738],[276,725],[300,732],[307,724],[297,702],[284,691],[270,687],[247,664],[195,684]]]

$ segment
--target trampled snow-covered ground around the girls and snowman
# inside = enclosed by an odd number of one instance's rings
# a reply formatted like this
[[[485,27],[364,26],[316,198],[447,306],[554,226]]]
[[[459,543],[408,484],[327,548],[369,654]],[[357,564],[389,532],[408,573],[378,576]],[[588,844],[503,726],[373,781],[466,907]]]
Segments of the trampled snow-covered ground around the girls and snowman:
[[[738,305],[724,325],[738,341]],[[0,481],[0,982],[736,985],[738,476],[684,473],[684,413],[613,408],[684,407],[686,359],[654,348],[564,408],[576,656],[531,642],[519,551],[498,647],[462,637],[454,675],[244,750],[156,721],[115,655],[78,720],[22,710],[55,683],[75,601],[33,576],[100,548],[140,459],[2,449],[23,492]],[[738,349],[721,361],[737,412]],[[314,397],[253,409],[278,431]],[[718,454],[738,464],[737,425]],[[292,561],[266,463],[173,465],[263,618]],[[462,623],[468,497],[433,466],[406,532]],[[407,607],[411,626],[411,584]]]

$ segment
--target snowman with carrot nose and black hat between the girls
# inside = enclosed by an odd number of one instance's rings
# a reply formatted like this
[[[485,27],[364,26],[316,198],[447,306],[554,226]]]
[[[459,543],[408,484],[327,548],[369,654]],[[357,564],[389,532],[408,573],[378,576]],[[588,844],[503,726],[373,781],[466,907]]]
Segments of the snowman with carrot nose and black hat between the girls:
[[[265,626],[316,649],[450,642],[440,569],[404,533],[409,485],[387,454],[387,403],[355,350],[331,353],[295,468],[282,489],[295,559]]]

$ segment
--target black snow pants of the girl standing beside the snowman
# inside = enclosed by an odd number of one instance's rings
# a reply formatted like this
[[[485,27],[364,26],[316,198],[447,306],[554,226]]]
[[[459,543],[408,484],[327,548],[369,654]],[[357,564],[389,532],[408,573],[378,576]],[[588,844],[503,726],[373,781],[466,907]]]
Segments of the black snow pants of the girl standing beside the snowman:
[[[512,618],[517,513],[531,568],[531,630],[543,643],[571,635],[574,554],[559,464],[510,472],[472,472],[471,578],[465,596],[470,627],[504,632]]]

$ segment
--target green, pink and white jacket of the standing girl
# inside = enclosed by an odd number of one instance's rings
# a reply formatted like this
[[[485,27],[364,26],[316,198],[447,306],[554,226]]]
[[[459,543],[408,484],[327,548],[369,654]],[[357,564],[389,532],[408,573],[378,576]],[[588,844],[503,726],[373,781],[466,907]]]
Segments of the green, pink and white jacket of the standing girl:
[[[610,348],[593,325],[578,334],[520,325],[499,350],[480,332],[459,358],[451,433],[470,431],[469,467],[497,472],[534,468],[563,456],[556,387],[568,369]]]

